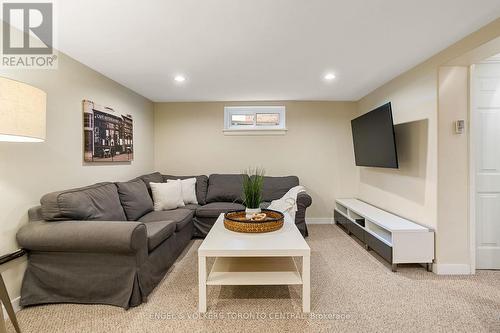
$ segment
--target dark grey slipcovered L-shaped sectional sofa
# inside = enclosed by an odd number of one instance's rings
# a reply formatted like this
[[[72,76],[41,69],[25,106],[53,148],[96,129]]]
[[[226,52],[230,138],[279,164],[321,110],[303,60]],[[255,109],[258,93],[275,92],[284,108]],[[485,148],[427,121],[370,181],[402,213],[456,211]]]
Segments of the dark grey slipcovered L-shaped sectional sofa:
[[[198,204],[168,211],[153,211],[149,183],[191,177],[155,172],[44,195],[17,233],[29,258],[21,305],[145,302],[193,237],[206,236],[221,213],[244,209],[242,175],[195,177]],[[266,177],[263,206],[298,184],[295,176]],[[297,203],[305,237],[311,197],[301,193]]]

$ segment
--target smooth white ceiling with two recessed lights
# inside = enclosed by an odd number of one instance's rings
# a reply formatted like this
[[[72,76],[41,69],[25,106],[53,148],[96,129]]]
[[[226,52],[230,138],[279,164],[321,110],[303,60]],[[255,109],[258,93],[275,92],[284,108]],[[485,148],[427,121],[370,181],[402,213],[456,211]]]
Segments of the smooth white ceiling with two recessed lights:
[[[61,0],[59,49],[153,101],[357,100],[499,0]],[[333,71],[330,83],[323,75]],[[186,82],[173,78],[184,74]]]

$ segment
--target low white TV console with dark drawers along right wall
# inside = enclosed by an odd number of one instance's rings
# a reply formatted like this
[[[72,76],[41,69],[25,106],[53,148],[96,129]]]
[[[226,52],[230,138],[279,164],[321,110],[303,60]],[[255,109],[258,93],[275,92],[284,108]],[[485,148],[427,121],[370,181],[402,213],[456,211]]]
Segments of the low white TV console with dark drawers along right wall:
[[[358,199],[335,200],[335,223],[361,240],[397,270],[398,264],[434,260],[434,231]]]

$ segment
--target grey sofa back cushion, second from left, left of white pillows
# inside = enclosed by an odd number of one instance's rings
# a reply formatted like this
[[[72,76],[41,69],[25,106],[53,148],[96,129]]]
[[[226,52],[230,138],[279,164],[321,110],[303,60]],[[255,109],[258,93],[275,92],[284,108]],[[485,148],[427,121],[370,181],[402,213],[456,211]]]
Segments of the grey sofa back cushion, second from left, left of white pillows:
[[[141,179],[116,183],[123,210],[129,221],[135,221],[153,210],[153,200]]]

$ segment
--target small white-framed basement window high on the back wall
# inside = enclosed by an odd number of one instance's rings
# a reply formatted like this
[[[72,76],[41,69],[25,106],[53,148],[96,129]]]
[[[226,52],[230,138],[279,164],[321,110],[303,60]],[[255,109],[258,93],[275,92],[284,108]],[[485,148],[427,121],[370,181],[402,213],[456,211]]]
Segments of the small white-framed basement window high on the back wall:
[[[284,106],[226,106],[224,107],[224,134],[285,134],[285,111]]]

